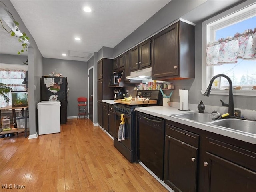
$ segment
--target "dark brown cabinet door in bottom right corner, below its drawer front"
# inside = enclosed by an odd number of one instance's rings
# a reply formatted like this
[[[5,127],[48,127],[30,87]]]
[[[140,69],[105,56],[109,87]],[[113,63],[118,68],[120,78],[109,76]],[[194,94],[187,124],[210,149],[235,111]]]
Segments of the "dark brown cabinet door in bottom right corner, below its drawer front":
[[[205,190],[209,192],[255,192],[256,173],[206,152]]]

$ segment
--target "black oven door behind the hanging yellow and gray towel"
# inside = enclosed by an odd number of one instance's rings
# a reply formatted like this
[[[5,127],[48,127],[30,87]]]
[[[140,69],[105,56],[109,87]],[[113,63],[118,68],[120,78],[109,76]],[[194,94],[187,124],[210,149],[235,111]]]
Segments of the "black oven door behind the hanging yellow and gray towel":
[[[132,116],[130,114],[125,114],[122,112],[117,112],[115,111],[116,114],[116,131],[115,131],[115,138],[118,137],[118,130],[119,130],[119,125],[121,123],[121,114],[124,114],[124,122],[125,122],[125,140],[120,141],[126,148],[129,150],[132,150],[131,146],[131,134],[132,134]]]

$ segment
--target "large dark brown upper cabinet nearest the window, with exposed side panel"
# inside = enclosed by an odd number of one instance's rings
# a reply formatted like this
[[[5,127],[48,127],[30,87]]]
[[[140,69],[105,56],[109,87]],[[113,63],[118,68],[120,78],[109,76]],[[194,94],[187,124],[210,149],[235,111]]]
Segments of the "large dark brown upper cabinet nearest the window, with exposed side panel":
[[[193,25],[178,21],[151,39],[152,79],[195,78]]]

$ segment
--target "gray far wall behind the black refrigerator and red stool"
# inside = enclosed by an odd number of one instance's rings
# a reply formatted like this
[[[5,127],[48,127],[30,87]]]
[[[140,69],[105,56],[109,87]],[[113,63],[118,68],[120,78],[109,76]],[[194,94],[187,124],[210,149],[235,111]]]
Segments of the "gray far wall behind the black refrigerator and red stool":
[[[44,58],[43,74],[51,72],[67,77],[69,87],[68,117],[77,116],[77,98],[88,98],[88,68],[87,62]]]

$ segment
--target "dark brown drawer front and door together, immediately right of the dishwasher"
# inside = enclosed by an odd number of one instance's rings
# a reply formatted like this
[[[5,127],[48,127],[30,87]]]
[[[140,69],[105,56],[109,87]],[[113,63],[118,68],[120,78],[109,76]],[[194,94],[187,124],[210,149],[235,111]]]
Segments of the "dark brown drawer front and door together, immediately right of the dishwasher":
[[[166,126],[164,182],[174,191],[196,191],[198,137],[168,124]]]

